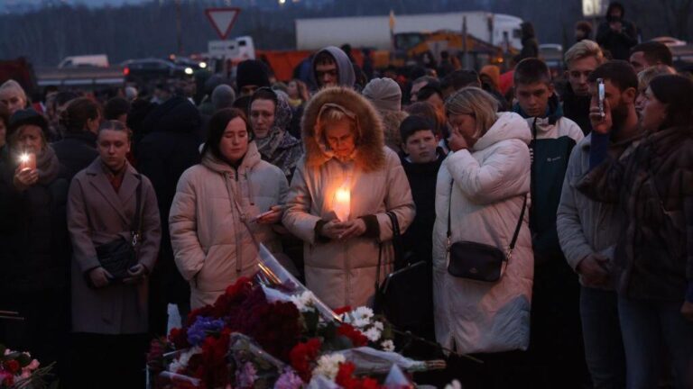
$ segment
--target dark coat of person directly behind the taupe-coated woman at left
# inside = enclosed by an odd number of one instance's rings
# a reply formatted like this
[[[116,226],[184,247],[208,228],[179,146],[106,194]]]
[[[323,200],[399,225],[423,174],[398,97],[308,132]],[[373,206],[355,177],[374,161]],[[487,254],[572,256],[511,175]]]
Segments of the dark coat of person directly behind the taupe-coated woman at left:
[[[52,144],[60,161],[60,177],[72,181],[72,177],[98,157],[97,135],[93,132],[66,133],[62,140]]]

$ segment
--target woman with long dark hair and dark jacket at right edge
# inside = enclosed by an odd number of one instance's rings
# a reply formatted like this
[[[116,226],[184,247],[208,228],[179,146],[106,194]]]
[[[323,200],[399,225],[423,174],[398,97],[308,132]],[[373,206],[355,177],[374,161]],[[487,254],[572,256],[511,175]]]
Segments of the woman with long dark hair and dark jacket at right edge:
[[[600,77],[597,68],[594,77]],[[632,73],[634,76],[634,73]],[[592,77],[591,76],[591,77]],[[637,86],[633,77],[631,89]],[[608,85],[607,85],[608,88]],[[632,93],[634,95],[634,93]],[[608,92],[607,92],[608,95]],[[693,81],[654,77],[645,91],[643,136],[628,152],[596,147],[618,135],[614,109],[590,110],[590,171],[577,188],[620,210],[612,274],[624,339],[626,386],[656,387],[667,348],[677,388],[693,373]],[[633,107],[634,111],[634,107]],[[626,154],[627,153],[627,154]],[[604,347],[604,345],[602,345]]]

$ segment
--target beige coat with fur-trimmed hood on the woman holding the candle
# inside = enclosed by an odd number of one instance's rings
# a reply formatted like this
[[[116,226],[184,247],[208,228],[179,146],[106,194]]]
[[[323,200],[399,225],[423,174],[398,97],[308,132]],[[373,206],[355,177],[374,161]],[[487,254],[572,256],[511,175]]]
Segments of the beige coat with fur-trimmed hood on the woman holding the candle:
[[[350,163],[329,158],[322,136],[314,128],[319,109],[326,103],[340,104],[358,116],[360,135],[356,158]],[[302,127],[306,156],[291,181],[283,222],[305,242],[306,282],[332,308],[372,303],[380,244],[393,238],[386,212],[397,215],[402,232],[414,219],[407,176],[397,155],[383,145],[383,124],[373,106],[351,89],[335,87],[315,95],[306,107]],[[351,176],[349,220],[374,215],[379,236],[346,241],[316,240],[316,223],[330,218],[337,187],[347,176]],[[392,246],[386,243],[381,279],[392,263]]]

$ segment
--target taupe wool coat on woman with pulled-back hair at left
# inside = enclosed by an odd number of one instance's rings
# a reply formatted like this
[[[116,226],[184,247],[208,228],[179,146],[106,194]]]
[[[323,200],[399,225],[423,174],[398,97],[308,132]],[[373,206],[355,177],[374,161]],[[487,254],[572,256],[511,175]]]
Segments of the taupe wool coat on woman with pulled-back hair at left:
[[[138,176],[140,178],[138,178]],[[69,185],[68,229],[72,240],[72,330],[101,334],[147,331],[147,283],[115,284],[93,289],[88,271],[99,267],[95,247],[130,239],[137,183],[142,181],[142,239],[139,261],[154,268],[162,238],[159,208],[152,183],[128,165],[116,193],[101,158],[80,171]]]

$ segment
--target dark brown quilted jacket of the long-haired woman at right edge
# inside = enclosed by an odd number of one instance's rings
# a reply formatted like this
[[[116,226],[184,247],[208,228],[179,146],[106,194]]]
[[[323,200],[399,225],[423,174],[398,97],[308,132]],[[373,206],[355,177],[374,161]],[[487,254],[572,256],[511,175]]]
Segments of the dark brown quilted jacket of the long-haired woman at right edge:
[[[693,280],[692,149],[693,129],[650,133],[631,155],[610,155],[577,186],[624,213],[614,273],[625,297],[681,302]]]

